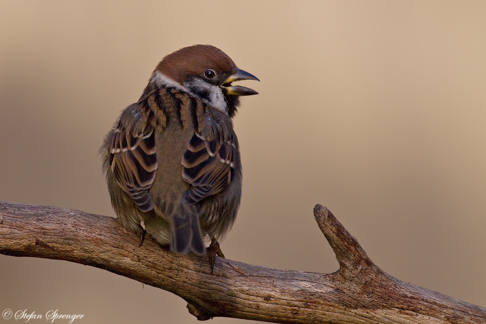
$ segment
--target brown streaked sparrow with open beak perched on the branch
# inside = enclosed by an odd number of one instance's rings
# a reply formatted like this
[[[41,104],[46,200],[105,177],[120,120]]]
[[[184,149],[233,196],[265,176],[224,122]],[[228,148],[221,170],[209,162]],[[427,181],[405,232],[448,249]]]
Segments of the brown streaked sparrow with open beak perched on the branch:
[[[100,149],[111,204],[139,246],[147,234],[178,254],[207,253],[211,273],[242,195],[233,118],[240,96],[258,94],[232,85],[241,80],[260,81],[214,46],[174,51]]]

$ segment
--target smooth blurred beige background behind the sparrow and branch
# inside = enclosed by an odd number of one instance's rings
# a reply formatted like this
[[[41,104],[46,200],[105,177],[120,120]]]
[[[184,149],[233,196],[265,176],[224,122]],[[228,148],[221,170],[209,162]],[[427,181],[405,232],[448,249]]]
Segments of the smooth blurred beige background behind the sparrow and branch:
[[[486,307],[485,13],[485,1],[1,1],[0,200],[115,216],[104,134],[164,55],[212,44],[261,80],[242,83],[260,94],[235,118],[244,189],[228,258],[336,271],[319,203],[387,273]],[[0,256],[0,297],[0,310],[77,323],[196,322],[169,292],[66,261]]]

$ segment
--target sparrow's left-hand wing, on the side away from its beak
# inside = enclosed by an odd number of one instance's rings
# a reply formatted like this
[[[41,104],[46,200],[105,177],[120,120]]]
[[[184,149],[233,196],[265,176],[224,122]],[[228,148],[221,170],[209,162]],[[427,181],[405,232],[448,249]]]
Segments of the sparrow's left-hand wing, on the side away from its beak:
[[[133,104],[121,114],[117,128],[111,133],[111,171],[141,211],[154,208],[149,194],[157,169],[154,130],[153,115],[144,114]]]

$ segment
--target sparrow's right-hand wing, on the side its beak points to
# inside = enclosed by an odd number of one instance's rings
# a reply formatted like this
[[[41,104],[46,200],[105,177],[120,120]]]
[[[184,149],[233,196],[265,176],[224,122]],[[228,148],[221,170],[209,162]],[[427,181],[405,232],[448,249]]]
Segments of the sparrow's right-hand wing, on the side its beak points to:
[[[182,177],[191,185],[184,193],[189,204],[223,191],[239,163],[238,143],[232,125],[227,125],[228,121],[219,116],[215,119],[206,117],[206,125],[194,131],[181,161],[184,166]]]

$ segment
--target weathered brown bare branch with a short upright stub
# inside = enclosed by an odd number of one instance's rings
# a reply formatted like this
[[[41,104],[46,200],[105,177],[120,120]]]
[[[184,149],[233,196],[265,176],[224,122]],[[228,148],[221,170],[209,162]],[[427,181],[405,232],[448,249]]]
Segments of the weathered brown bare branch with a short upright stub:
[[[184,298],[199,320],[216,316],[275,323],[486,323],[486,309],[402,282],[378,268],[321,205],[314,217],[336,254],[335,273],[260,267],[177,255],[116,219],[0,202],[0,253],[67,260],[108,270]]]

